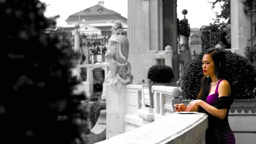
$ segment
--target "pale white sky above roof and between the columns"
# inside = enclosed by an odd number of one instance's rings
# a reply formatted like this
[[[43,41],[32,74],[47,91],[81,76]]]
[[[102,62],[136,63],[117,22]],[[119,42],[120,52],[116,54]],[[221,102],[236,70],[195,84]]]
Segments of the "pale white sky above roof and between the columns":
[[[60,15],[57,19],[57,26],[65,26],[65,20],[69,15],[78,11],[92,7],[98,3],[97,0],[40,0],[46,3],[46,17]],[[219,11],[217,7],[214,11],[211,9],[212,0],[177,0],[177,18],[182,20],[184,15],[183,9],[188,10],[186,18],[190,23],[190,28],[201,28],[213,22],[214,12]],[[121,14],[127,18],[127,0],[104,0],[104,7]]]

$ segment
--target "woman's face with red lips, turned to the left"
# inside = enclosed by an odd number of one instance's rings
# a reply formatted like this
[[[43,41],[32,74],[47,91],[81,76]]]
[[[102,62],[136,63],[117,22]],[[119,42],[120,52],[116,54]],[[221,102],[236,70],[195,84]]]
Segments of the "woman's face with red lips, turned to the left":
[[[214,61],[210,54],[205,54],[202,58],[202,69],[203,75],[205,76],[212,76],[215,75],[214,73]]]

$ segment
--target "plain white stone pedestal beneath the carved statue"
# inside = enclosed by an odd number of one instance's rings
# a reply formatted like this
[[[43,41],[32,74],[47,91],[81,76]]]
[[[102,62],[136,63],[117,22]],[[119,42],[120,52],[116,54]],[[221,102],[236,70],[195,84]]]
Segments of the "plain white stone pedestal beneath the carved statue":
[[[126,85],[122,85],[117,91],[113,87],[106,86],[106,138],[125,133],[126,115]]]

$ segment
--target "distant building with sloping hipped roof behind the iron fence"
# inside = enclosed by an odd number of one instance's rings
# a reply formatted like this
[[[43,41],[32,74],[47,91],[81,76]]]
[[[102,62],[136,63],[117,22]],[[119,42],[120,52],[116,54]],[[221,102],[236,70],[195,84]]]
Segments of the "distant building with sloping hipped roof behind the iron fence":
[[[75,32],[75,25],[79,25],[79,31],[84,35],[111,34],[110,28],[115,21],[121,22],[123,27],[127,27],[127,19],[119,13],[107,9],[103,1],[98,4],[69,15],[66,26],[63,26],[66,32]]]

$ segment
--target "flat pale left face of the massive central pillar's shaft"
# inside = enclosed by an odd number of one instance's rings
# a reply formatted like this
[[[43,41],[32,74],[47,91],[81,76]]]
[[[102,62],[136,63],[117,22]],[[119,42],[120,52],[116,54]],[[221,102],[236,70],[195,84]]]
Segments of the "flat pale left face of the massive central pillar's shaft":
[[[131,54],[149,53],[150,51],[149,3],[149,0],[128,0],[127,35]]]

